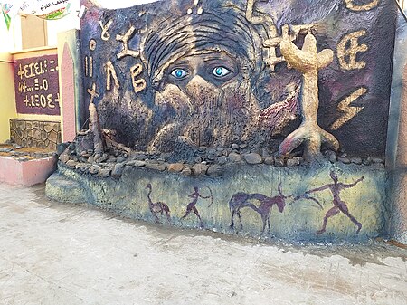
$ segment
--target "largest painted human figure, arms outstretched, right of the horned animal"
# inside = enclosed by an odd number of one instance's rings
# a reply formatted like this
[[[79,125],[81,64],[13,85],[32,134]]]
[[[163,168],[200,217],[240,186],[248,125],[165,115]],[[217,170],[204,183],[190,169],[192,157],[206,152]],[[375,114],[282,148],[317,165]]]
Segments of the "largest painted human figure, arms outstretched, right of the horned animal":
[[[324,233],[326,228],[327,228],[327,220],[328,220],[328,218],[335,216],[339,212],[342,212],[343,214],[345,214],[352,221],[352,223],[354,223],[357,226],[356,234],[358,234],[360,232],[360,230],[362,229],[362,224],[359,223],[355,219],[355,217],[352,214],[349,213],[349,210],[347,208],[346,203],[341,200],[339,194],[340,194],[340,192],[342,190],[344,190],[346,188],[354,187],[359,182],[363,181],[364,176],[357,179],[354,183],[351,183],[351,184],[348,184],[348,185],[345,185],[344,183],[338,183],[337,182],[337,176],[336,176],[336,173],[334,171],[331,171],[330,176],[331,176],[332,180],[334,180],[333,184],[329,184],[329,185],[326,185],[326,186],[321,186],[321,187],[311,189],[311,190],[305,192],[305,195],[307,195],[307,194],[310,194],[310,193],[321,192],[321,191],[324,191],[326,189],[329,189],[331,191],[333,197],[334,197],[334,200],[333,200],[334,207],[330,208],[327,211],[327,214],[325,214],[324,223],[322,224],[321,230],[317,231],[317,234]]]

